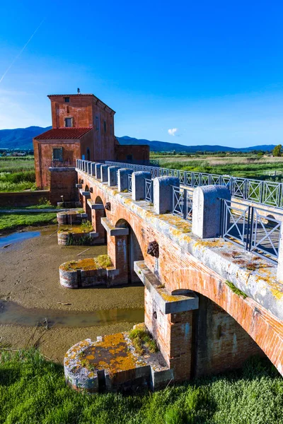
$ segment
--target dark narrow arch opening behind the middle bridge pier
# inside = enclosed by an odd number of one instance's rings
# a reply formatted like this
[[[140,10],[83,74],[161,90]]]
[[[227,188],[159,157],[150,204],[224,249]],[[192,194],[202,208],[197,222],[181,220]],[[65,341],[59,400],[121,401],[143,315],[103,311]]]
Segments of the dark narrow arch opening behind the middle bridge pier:
[[[116,228],[128,228],[129,234],[124,236],[126,237],[125,243],[125,261],[127,268],[127,279],[129,283],[140,283],[137,273],[134,271],[134,261],[143,261],[144,255],[142,254],[141,247],[139,245],[139,240],[137,235],[135,235],[134,230],[131,225],[125,219],[117,220],[115,224]]]

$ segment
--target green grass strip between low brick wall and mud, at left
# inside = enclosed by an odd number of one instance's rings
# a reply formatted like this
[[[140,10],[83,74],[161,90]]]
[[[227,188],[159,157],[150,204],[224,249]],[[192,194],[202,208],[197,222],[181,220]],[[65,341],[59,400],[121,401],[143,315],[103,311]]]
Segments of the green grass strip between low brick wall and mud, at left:
[[[42,213],[30,213],[28,212],[29,208],[42,209]],[[56,208],[54,208],[54,212],[44,211],[46,208],[52,208],[52,206],[48,204],[30,206],[29,208],[25,208],[26,212],[19,213],[5,213],[5,208],[0,208],[0,232],[11,232],[13,230],[18,230],[19,228],[25,228],[29,226],[57,223]]]

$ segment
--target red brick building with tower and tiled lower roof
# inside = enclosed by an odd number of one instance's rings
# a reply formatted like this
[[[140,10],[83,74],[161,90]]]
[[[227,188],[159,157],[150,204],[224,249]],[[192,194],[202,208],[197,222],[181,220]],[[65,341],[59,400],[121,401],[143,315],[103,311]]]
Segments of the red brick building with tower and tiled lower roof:
[[[76,159],[149,160],[149,146],[120,146],[115,111],[93,94],[49,95],[52,129],[33,139],[35,178],[50,187],[50,167],[72,167]]]

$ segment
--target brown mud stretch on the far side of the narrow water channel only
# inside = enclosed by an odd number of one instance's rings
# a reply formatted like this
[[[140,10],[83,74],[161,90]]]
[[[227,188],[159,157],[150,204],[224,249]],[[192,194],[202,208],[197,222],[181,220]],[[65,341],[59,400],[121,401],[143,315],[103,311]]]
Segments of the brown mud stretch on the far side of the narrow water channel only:
[[[71,290],[59,284],[59,265],[72,259],[106,254],[106,246],[59,246],[57,227],[41,230],[40,237],[0,249],[0,298],[25,307],[62,310],[104,310],[144,305],[142,285]],[[87,252],[77,254],[88,249]],[[60,303],[61,302],[61,303]],[[62,305],[70,303],[71,305]]]

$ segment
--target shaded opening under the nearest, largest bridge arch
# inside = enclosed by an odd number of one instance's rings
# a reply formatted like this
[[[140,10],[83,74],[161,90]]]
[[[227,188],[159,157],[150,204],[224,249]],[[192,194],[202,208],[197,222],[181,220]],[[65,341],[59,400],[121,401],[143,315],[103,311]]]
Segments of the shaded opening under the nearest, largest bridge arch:
[[[267,358],[226,310],[200,293],[197,296],[199,307],[192,311],[192,377],[241,368],[251,356]]]

